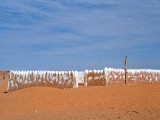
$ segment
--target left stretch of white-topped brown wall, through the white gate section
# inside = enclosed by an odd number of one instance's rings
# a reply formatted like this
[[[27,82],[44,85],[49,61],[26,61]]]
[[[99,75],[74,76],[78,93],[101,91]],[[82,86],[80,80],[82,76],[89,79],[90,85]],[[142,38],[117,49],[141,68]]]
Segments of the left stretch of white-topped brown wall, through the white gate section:
[[[10,71],[8,91],[29,86],[78,87],[84,74],[78,71]]]

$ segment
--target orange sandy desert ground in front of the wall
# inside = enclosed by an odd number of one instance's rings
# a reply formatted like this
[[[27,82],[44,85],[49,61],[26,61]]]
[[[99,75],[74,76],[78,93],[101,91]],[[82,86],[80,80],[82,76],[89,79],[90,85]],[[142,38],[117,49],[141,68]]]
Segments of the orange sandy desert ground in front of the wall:
[[[4,93],[0,120],[160,120],[160,84],[31,87]]]

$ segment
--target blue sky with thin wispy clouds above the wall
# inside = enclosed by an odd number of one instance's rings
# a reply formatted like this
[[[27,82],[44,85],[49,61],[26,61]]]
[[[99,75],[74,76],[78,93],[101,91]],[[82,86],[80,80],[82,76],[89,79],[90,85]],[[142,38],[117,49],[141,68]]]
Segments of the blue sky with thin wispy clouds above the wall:
[[[0,0],[0,70],[160,69],[160,0]]]

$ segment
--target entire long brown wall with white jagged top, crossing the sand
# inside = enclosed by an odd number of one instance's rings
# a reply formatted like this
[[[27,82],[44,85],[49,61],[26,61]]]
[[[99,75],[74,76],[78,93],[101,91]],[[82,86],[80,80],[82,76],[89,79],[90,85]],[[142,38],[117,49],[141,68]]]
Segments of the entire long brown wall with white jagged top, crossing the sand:
[[[124,84],[124,69],[104,68],[85,71],[10,71],[7,90],[29,86],[76,88],[84,86]],[[129,69],[128,83],[160,82],[160,70]]]

